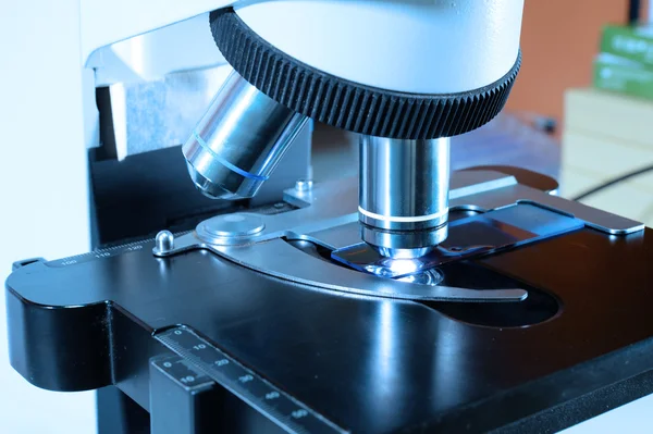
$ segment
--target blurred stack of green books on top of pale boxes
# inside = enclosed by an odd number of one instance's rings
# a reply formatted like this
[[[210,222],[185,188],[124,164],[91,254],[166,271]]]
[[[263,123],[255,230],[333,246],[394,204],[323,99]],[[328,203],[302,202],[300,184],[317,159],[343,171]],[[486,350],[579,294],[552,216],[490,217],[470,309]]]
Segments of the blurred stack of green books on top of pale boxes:
[[[605,26],[593,84],[597,89],[653,99],[653,27]]]

